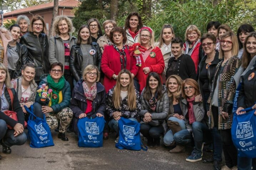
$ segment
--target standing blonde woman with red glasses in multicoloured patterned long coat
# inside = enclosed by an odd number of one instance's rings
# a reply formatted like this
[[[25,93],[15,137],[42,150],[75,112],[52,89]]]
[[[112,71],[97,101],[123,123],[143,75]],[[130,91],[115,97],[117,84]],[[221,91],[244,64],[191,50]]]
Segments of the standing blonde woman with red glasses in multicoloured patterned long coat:
[[[237,165],[237,150],[231,138],[232,108],[236,91],[234,75],[238,71],[241,61],[237,57],[239,45],[237,37],[232,32],[221,36],[219,59],[216,66],[210,97],[208,100],[210,129],[216,127],[221,135],[226,165],[223,168],[231,169]],[[214,141],[215,145],[216,142]],[[221,145],[218,143],[218,145]]]

